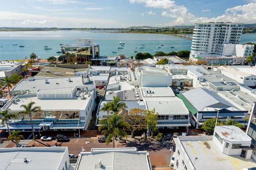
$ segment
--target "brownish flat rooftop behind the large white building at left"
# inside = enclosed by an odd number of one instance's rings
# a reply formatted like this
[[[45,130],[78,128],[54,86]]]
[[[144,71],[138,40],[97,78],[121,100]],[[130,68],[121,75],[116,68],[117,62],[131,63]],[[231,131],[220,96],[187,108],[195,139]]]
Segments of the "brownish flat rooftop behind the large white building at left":
[[[75,72],[86,71],[88,68],[62,68],[62,67],[54,67],[54,66],[43,66],[36,74],[36,77],[69,77],[75,76]],[[55,75],[55,73],[61,73],[61,75]]]

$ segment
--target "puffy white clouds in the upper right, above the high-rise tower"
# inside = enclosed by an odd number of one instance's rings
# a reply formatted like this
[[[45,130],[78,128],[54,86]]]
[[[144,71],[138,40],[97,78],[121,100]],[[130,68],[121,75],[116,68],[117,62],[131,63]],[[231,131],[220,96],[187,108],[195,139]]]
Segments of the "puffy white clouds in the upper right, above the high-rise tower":
[[[251,3],[235,6],[225,10],[224,14],[208,18],[196,17],[188,12],[183,5],[175,4],[174,0],[130,0],[130,3],[144,4],[145,7],[158,8],[163,10],[161,16],[173,18],[169,23],[158,24],[159,26],[175,25],[194,25],[198,22],[238,22],[238,23],[256,23],[256,0],[250,0]],[[224,1],[222,1],[224,2]],[[207,12],[206,10],[203,10]],[[202,12],[203,12],[202,11]]]

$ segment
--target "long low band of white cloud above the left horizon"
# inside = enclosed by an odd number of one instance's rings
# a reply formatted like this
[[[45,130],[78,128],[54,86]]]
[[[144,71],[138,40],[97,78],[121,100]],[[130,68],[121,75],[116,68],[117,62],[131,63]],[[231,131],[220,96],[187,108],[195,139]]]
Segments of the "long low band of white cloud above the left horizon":
[[[1,27],[113,27],[115,20],[96,18],[49,17],[45,15],[0,12]],[[119,24],[119,23],[118,23]],[[121,24],[120,24],[121,25]]]

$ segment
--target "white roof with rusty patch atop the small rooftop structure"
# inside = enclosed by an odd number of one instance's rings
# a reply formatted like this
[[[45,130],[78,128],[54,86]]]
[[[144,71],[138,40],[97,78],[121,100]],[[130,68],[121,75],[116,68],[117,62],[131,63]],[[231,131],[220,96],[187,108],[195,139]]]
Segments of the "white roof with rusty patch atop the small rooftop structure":
[[[236,126],[216,126],[215,131],[220,135],[225,141],[248,141],[251,142],[252,138],[248,136],[244,131]]]

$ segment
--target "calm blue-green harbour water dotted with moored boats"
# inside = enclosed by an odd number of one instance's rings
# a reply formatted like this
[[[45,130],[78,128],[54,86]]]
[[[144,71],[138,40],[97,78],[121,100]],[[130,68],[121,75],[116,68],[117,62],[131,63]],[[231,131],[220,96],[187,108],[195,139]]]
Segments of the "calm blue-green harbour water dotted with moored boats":
[[[154,54],[155,50],[164,52],[190,50],[191,40],[179,38],[177,36],[164,34],[126,34],[126,33],[107,33],[91,31],[20,31],[20,32],[0,32],[0,60],[22,59],[34,52],[40,58],[58,56],[60,51],[59,44],[75,43],[76,38],[93,38],[94,42],[100,46],[101,56],[114,56],[125,54],[135,56],[134,50],[138,52],[149,52]],[[125,42],[123,49],[117,49],[119,42]],[[241,43],[256,42],[256,34],[243,34]],[[145,44],[145,48],[136,47]],[[13,46],[12,44],[18,44]],[[156,48],[157,46],[161,48]],[[20,45],[25,47],[20,48]],[[47,45],[52,50],[44,50]],[[174,46],[174,48],[170,48]],[[117,51],[113,54],[112,51]]]

